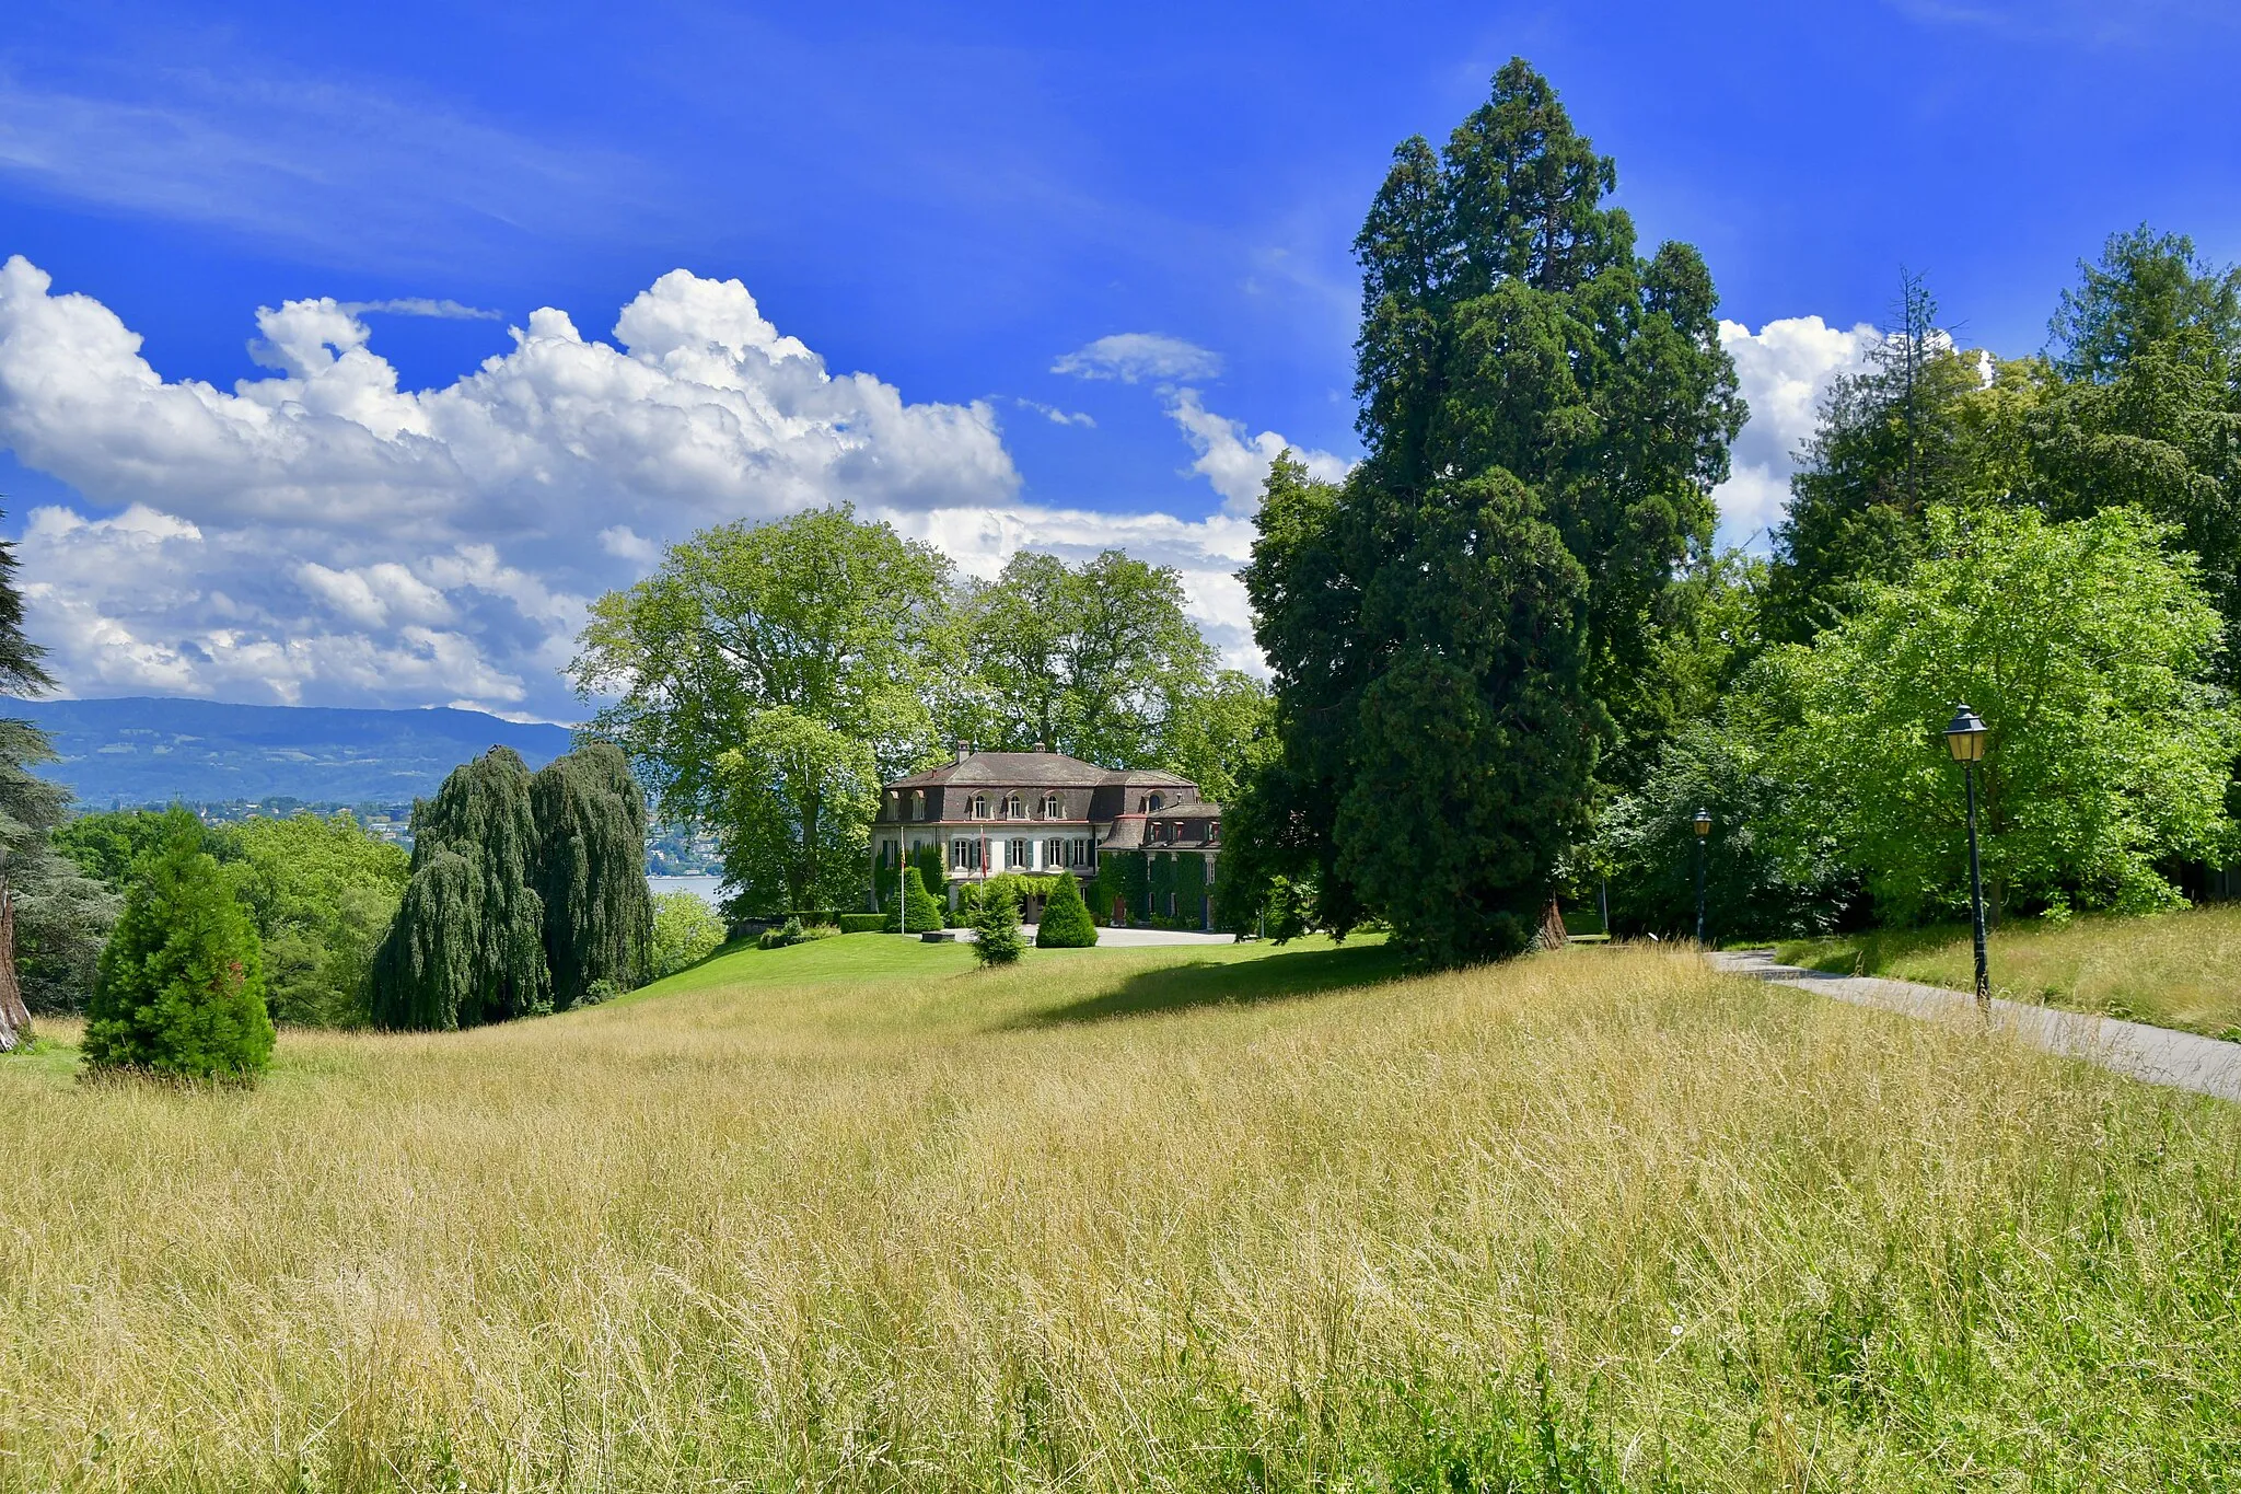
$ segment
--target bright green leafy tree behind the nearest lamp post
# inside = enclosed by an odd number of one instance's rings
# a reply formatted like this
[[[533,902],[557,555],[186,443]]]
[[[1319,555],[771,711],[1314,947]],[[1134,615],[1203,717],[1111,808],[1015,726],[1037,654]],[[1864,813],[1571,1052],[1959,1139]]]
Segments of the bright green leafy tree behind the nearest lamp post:
[[[1965,699],[1990,726],[1979,777],[1986,887],[2003,903],[2149,909],[2165,867],[2228,849],[2241,737],[2210,683],[2216,609],[2192,555],[2129,508],[2051,524],[1932,508],[1932,555],[1811,647],[1768,654],[1782,833],[1826,835],[1887,918],[1963,907],[1959,768],[1941,730]],[[1768,829],[1777,829],[1768,824]]]

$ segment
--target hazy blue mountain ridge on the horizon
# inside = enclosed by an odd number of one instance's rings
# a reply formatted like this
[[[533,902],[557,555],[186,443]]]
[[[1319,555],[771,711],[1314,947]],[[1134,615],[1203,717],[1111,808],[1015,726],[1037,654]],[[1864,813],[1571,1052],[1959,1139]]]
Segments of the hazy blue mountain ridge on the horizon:
[[[276,795],[311,804],[403,804],[435,793],[446,773],[493,746],[513,748],[531,768],[569,750],[565,726],[455,708],[0,699],[0,717],[31,721],[54,739],[61,762],[38,773],[67,784],[85,809]]]

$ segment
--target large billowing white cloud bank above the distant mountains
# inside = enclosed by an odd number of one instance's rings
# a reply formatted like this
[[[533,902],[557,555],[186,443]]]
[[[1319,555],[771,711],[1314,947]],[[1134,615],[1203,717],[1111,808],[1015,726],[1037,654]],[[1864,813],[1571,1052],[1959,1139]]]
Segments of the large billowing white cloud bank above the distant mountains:
[[[737,280],[663,276],[614,343],[533,311],[511,352],[417,392],[365,309],[258,311],[271,374],[220,390],[0,264],[0,446],[92,511],[36,508],[20,547],[72,690],[565,715],[587,598],[663,542],[809,504],[1017,497],[988,405],[831,374]]]

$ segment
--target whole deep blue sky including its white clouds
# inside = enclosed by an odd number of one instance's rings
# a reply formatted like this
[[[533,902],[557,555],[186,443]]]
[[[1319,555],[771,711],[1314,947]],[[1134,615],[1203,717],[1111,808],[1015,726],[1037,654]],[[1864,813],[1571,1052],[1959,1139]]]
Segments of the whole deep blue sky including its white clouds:
[[[2241,258],[2216,4],[184,9],[0,36],[0,493],[78,694],[565,719],[587,596],[843,497],[1127,544],[1248,661],[1253,473],[1356,452],[1360,213],[1510,54],[1712,267],[1730,540],[1900,264],[2019,354],[2113,228]]]

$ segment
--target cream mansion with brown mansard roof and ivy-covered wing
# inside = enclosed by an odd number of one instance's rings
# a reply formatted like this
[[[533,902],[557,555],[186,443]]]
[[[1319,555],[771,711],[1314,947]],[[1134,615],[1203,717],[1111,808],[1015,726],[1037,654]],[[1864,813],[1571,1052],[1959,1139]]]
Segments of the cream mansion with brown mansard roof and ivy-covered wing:
[[[1188,777],[1159,768],[1100,768],[1064,753],[975,753],[961,744],[952,762],[887,784],[872,822],[874,874],[892,878],[903,856],[928,847],[939,851],[950,887],[1006,871],[1071,871],[1096,883],[1114,856],[1192,856],[1201,862],[1192,871],[1203,876],[1185,885],[1197,889],[1215,880],[1221,806],[1203,802]],[[1197,907],[1183,907],[1185,894],[1165,880],[1165,894],[1116,896],[1091,912],[1114,923],[1212,921],[1201,891],[1188,894]]]

